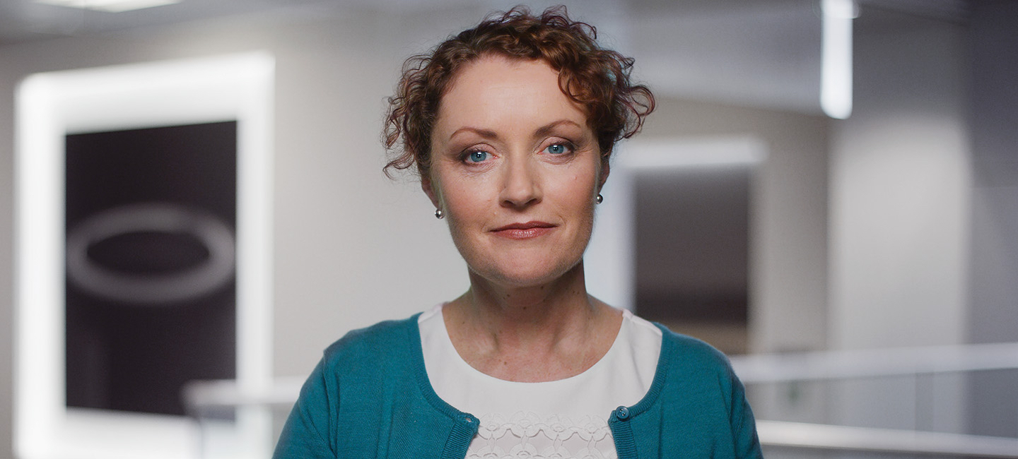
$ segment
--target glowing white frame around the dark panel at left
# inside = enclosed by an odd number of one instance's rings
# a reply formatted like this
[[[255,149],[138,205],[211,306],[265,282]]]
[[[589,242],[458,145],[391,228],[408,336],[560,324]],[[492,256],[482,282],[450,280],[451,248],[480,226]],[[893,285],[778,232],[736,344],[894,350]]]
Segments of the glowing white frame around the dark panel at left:
[[[63,160],[68,133],[237,121],[237,385],[254,392],[271,386],[274,67],[272,56],[247,53],[37,73],[18,87],[16,457],[189,459],[199,453],[197,433],[186,418],[66,406]],[[268,415],[237,413],[237,443],[250,449],[245,457],[268,455],[269,428]]]

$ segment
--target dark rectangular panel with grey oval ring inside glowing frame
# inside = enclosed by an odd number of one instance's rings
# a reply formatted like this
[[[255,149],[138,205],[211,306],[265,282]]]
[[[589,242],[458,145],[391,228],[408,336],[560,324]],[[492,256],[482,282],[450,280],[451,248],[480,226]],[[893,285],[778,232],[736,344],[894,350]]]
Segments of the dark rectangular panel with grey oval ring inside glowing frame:
[[[184,414],[236,378],[237,123],[66,136],[67,406]]]

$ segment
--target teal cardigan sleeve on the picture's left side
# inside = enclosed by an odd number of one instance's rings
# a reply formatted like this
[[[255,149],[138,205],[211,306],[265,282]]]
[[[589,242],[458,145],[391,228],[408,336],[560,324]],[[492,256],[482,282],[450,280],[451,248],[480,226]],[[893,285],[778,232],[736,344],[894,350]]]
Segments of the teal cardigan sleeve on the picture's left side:
[[[326,381],[324,359],[318,363],[300,389],[300,396],[286,419],[273,459],[334,459],[332,411],[339,394]]]

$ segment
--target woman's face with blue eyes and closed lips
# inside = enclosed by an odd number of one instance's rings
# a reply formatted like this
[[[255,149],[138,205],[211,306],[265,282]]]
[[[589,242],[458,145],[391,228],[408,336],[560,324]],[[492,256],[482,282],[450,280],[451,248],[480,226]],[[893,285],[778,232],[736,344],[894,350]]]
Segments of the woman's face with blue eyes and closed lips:
[[[421,184],[470,270],[521,287],[579,265],[607,174],[558,73],[490,56],[462,68],[443,97]]]

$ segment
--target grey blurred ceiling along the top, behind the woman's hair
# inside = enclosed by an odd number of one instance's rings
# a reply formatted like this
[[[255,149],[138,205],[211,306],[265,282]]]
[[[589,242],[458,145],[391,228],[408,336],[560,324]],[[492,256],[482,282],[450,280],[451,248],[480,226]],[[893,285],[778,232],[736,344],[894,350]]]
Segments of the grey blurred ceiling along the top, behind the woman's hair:
[[[566,0],[601,27],[613,48],[634,56],[656,93],[819,114],[819,0]],[[961,21],[965,0],[857,0],[860,10],[893,9]],[[548,3],[538,0],[538,3]],[[488,9],[517,2],[487,0]],[[0,0],[0,47],[60,37],[252,12],[351,8],[394,15],[477,8],[469,0],[183,0],[120,13]],[[533,4],[533,2],[531,2]],[[534,5],[538,9],[539,5]]]

